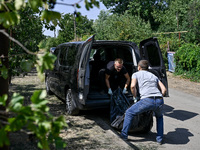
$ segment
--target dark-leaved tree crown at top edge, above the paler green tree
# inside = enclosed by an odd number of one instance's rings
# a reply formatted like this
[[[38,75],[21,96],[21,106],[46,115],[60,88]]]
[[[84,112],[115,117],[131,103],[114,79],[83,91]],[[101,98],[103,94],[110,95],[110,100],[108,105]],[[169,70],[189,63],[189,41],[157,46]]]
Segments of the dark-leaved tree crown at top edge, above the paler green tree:
[[[159,22],[157,22],[152,13],[153,11],[162,10],[167,8],[168,0],[101,0],[103,4],[111,9],[112,13],[124,14],[126,11],[133,15],[141,17],[146,22],[150,22],[151,28],[157,31]]]

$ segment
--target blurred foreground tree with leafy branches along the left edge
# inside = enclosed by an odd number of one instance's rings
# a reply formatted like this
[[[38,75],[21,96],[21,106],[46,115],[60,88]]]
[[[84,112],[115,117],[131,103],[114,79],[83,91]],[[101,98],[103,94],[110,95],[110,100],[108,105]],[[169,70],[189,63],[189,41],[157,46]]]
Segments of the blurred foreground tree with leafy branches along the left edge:
[[[34,12],[39,12],[42,10],[41,19],[45,23],[52,22],[54,25],[57,24],[57,21],[60,19],[61,14],[49,10],[49,6],[52,8],[55,5],[56,1],[52,0],[13,0],[13,1],[0,1],[0,105],[6,108],[8,112],[15,114],[15,117],[8,118],[8,122],[0,120],[0,148],[3,148],[5,145],[9,145],[9,139],[7,133],[11,131],[20,130],[24,125],[27,125],[27,128],[36,134],[39,142],[38,146],[42,149],[49,149],[49,143],[55,144],[56,146],[64,146],[59,138],[60,129],[65,125],[63,117],[54,118],[48,113],[48,107],[46,107],[47,101],[44,100],[46,93],[44,91],[35,91],[31,97],[32,104],[30,106],[23,106],[23,97],[14,94],[9,104],[8,100],[8,42],[9,40],[20,45],[24,51],[28,54],[36,56],[36,59],[33,60],[34,65],[37,68],[38,75],[43,79],[43,72],[46,69],[53,69],[53,63],[55,61],[55,56],[49,52],[46,52],[44,55],[38,55],[35,52],[28,50],[23,44],[18,40],[11,37],[6,31],[5,28],[14,26],[20,21],[19,10],[22,9],[25,5],[29,5]],[[85,0],[86,8],[89,9],[93,5],[98,6],[99,3],[96,0],[88,2]],[[44,7],[43,7],[44,6]],[[80,7],[78,3],[71,6]],[[2,43],[3,42],[3,43]],[[32,67],[29,60],[25,60],[23,67],[26,67],[28,70]],[[32,60],[31,60],[32,61]],[[0,111],[0,119],[5,118],[2,114],[7,114],[5,109]],[[34,114],[34,115],[33,115]],[[6,147],[7,148],[7,147]]]

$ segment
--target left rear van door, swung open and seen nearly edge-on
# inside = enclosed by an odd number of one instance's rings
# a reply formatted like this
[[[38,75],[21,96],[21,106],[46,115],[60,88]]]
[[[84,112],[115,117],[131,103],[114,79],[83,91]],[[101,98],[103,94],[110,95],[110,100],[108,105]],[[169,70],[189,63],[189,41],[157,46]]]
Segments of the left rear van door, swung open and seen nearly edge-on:
[[[87,94],[89,92],[89,84],[90,84],[89,58],[94,37],[95,35],[89,37],[83,44],[81,50],[77,82],[79,90],[79,100],[82,104],[85,104],[85,99],[87,98]]]

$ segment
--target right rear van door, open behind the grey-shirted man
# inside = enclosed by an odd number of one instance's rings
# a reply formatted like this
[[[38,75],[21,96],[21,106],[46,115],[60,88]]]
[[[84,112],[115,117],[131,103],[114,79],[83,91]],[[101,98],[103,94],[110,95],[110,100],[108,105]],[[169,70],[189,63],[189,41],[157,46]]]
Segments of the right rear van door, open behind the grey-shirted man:
[[[165,85],[167,89],[165,97],[168,97],[169,92],[166,68],[157,38],[149,38],[140,42],[140,57],[141,59],[149,61],[149,71],[155,74],[159,78],[159,80]]]

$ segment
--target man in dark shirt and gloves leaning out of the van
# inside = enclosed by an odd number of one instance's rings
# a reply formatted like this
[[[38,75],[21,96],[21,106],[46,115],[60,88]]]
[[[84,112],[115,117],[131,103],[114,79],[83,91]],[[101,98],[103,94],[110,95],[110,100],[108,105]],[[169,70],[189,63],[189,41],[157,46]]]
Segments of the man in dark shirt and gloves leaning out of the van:
[[[123,66],[121,58],[110,61],[105,70],[105,82],[108,88],[108,94],[112,94],[113,90],[118,87],[123,89],[123,93],[127,92],[127,87],[130,83],[130,76]]]

